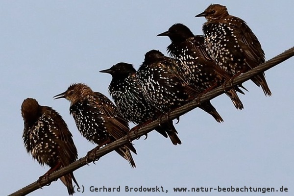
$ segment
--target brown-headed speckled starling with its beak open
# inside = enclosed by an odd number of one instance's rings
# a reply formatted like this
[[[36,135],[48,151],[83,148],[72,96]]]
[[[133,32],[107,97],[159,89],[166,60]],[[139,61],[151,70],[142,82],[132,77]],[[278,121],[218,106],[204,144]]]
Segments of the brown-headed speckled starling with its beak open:
[[[92,91],[86,84],[74,83],[67,91],[54,98],[66,98],[71,102],[70,114],[73,115],[77,129],[88,141],[98,144],[95,150],[122,138],[129,132],[128,122],[111,100],[101,93]],[[131,143],[116,149],[131,167],[135,168],[136,164],[130,150],[137,154]]]

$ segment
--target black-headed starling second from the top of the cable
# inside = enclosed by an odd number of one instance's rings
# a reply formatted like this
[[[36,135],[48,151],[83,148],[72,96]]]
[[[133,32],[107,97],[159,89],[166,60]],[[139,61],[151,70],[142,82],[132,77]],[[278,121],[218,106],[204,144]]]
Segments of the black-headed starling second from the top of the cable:
[[[204,36],[195,36],[183,24],[174,24],[168,31],[157,36],[168,36],[171,39],[172,43],[167,48],[168,53],[181,66],[187,82],[199,92],[211,90],[223,84],[225,79],[230,79],[230,75],[209,57],[204,47]],[[234,89],[227,91],[226,94],[237,109],[244,108]]]

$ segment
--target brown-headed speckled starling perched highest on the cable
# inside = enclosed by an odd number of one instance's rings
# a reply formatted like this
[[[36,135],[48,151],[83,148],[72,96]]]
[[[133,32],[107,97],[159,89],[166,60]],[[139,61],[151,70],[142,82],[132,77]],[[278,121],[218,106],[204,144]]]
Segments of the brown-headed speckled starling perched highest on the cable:
[[[201,16],[207,20],[202,26],[205,49],[227,73],[236,77],[265,62],[265,53],[257,37],[245,21],[229,15],[225,6],[209,5],[204,12],[196,15]],[[261,86],[266,96],[271,95],[265,73],[251,80]]]

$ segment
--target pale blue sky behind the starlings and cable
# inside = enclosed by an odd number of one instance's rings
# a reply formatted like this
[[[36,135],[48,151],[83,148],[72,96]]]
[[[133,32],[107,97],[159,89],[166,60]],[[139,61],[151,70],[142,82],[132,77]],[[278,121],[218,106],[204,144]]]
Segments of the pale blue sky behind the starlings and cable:
[[[266,2],[266,3],[265,3]],[[166,54],[167,37],[156,37],[174,23],[202,34],[204,18],[194,16],[210,3],[226,5],[230,14],[244,19],[259,38],[266,58],[293,47],[293,1],[0,1],[0,193],[10,194],[48,171],[34,161],[22,141],[21,103],[36,98],[56,109],[68,123],[79,157],[95,147],[77,131],[67,100],[53,100],[74,82],[84,82],[110,98],[109,74],[98,71],[118,62],[137,69],[150,49]],[[176,125],[182,145],[173,146],[156,132],[135,141],[137,169],[117,153],[74,175],[86,190],[82,195],[155,195],[125,193],[124,186],[173,187],[288,187],[294,195],[294,58],[266,72],[273,93],[265,97],[251,81],[240,96],[238,111],[226,96],[212,103],[224,119],[217,123],[198,109]],[[131,125],[132,126],[132,125]],[[90,186],[121,186],[118,193],[92,193]],[[61,181],[30,196],[67,195]],[[157,194],[159,195],[159,194]],[[186,195],[226,196],[227,193]],[[263,195],[246,193],[231,195]],[[267,193],[267,196],[277,193]]]

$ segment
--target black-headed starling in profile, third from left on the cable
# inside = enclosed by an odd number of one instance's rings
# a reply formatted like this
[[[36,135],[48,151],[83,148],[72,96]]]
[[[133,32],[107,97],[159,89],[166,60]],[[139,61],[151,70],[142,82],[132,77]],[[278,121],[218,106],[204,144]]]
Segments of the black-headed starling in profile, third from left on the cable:
[[[135,124],[144,124],[160,116],[160,112],[144,98],[132,64],[117,63],[100,72],[112,75],[108,91],[125,119]],[[155,130],[164,137],[169,136],[172,144],[181,144],[172,121],[162,123]]]

